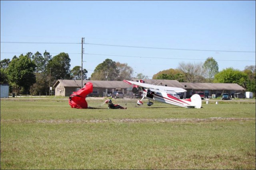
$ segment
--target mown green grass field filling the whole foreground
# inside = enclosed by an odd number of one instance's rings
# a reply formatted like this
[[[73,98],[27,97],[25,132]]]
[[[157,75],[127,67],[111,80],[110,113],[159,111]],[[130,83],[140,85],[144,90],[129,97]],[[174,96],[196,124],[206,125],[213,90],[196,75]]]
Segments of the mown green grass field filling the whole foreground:
[[[67,98],[1,98],[1,169],[256,169],[254,100],[72,109]],[[215,104],[218,101],[218,104]],[[145,100],[146,102],[146,100]]]

